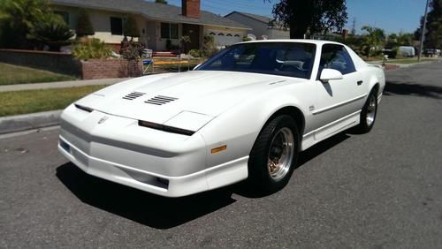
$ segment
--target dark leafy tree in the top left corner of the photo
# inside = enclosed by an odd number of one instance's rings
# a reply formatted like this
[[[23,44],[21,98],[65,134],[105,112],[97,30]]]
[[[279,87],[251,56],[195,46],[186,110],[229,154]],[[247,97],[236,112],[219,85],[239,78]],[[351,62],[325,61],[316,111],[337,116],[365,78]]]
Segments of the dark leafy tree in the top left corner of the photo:
[[[46,0],[1,0],[0,28],[5,48],[31,49],[27,34],[44,11],[49,9]]]

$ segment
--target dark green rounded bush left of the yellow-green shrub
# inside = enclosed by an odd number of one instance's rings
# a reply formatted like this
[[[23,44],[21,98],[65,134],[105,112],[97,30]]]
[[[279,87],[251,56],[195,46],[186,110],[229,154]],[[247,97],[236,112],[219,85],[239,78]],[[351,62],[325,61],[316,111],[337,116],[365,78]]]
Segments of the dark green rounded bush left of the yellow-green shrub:
[[[27,39],[50,47],[50,51],[59,51],[60,47],[70,43],[73,33],[59,15],[47,12],[37,19],[29,30]]]

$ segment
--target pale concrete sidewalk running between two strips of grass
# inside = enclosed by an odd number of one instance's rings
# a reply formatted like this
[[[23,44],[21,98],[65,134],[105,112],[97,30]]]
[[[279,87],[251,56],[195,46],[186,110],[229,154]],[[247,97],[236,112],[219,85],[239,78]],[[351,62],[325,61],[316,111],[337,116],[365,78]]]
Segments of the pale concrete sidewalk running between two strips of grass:
[[[0,86],[0,92],[49,89],[49,88],[65,88],[65,87],[83,87],[83,86],[96,86],[96,85],[112,85],[126,79],[130,78],[87,79],[87,80],[48,82],[48,83],[7,85],[7,86]]]

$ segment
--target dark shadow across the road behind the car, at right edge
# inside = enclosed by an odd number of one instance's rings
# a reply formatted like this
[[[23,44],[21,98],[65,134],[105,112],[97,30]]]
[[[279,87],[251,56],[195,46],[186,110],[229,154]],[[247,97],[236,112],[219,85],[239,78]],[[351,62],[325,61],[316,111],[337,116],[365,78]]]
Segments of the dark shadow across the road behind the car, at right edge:
[[[404,83],[403,81],[387,81],[385,83],[384,94],[416,95],[442,99],[442,87]]]

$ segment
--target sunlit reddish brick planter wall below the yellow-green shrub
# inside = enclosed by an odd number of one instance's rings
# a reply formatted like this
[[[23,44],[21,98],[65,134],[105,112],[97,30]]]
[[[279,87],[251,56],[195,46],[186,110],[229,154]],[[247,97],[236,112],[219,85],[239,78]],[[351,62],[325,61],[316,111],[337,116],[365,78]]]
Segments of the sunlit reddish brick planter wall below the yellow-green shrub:
[[[83,79],[126,78],[141,76],[142,64],[125,59],[81,61]]]

